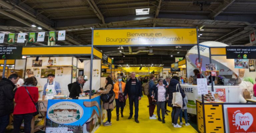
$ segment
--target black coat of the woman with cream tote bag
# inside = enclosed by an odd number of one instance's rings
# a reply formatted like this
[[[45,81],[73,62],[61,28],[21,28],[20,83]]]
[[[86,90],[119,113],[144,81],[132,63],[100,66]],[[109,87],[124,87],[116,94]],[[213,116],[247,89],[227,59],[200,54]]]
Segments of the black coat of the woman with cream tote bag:
[[[172,106],[171,104],[172,104],[172,99],[173,99],[173,93],[174,92],[179,92],[178,90],[176,90],[177,84],[179,84],[179,90],[180,90],[182,98],[185,97],[185,94],[183,93],[183,91],[181,89],[180,82],[176,79],[171,79],[170,84],[169,84],[168,89],[167,89],[167,94],[169,96],[169,99],[167,101],[168,106]],[[183,106],[185,106],[184,101],[183,101]]]

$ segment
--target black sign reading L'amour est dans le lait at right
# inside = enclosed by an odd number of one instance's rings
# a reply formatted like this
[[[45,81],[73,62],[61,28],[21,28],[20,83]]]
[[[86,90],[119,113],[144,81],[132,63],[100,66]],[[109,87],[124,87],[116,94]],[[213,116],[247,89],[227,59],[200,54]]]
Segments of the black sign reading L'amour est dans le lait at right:
[[[256,46],[228,46],[227,59],[255,59]]]

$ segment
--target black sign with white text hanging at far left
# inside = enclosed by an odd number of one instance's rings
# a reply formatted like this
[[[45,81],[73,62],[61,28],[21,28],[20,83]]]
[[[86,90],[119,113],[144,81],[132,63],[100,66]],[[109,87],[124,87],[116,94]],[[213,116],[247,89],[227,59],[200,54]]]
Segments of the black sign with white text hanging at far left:
[[[0,47],[0,59],[21,59],[22,47],[21,46],[3,46]]]

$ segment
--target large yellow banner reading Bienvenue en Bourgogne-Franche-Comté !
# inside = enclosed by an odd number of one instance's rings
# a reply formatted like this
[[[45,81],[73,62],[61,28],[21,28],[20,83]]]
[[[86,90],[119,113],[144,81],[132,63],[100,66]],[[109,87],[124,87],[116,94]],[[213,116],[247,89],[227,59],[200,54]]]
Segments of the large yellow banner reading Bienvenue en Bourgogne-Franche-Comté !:
[[[182,45],[197,44],[196,28],[184,29],[95,29],[93,45]]]

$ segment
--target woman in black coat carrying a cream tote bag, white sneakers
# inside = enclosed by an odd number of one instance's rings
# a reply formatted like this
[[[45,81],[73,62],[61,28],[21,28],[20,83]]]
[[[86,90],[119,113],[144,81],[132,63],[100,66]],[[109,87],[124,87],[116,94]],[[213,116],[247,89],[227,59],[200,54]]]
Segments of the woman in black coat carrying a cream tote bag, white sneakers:
[[[170,84],[168,86],[168,89],[167,89],[167,94],[169,96],[168,106],[172,107],[172,124],[173,124],[173,127],[181,127],[178,124],[178,118],[179,118],[179,114],[180,114],[180,111],[181,111],[181,107],[172,106],[173,93],[174,92],[179,92],[178,90],[176,90],[177,84],[179,84],[179,91],[180,91],[182,97],[185,97],[185,94],[183,93],[183,91],[181,89],[181,86],[180,86],[179,77],[177,77],[177,76],[172,77],[172,79],[170,81]],[[185,105],[185,104],[183,103],[183,105]]]

